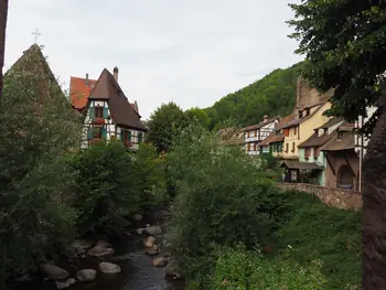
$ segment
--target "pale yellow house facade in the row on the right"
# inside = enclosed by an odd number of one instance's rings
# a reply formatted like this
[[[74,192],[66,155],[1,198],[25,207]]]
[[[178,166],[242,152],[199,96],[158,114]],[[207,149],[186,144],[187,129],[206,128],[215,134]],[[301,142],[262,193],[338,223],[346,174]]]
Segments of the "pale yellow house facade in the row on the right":
[[[330,108],[331,103],[329,100],[303,108],[299,110],[299,115],[294,121],[283,127],[283,159],[299,159],[298,146],[313,135],[314,128],[322,126],[330,119],[330,117],[323,115]]]

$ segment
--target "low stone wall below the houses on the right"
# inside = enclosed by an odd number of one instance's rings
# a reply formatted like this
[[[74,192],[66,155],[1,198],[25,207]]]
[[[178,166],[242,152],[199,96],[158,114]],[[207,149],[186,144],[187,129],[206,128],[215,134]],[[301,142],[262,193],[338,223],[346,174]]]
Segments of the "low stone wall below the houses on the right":
[[[341,189],[329,189],[324,186],[307,183],[277,183],[282,190],[294,190],[308,192],[317,195],[323,203],[342,208],[358,210],[362,208],[362,194],[356,191],[346,191]]]

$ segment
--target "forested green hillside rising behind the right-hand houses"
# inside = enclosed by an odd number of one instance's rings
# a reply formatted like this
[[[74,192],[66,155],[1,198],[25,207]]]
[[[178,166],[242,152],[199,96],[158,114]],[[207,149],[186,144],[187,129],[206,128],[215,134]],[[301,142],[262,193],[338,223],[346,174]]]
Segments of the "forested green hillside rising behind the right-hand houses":
[[[211,128],[217,129],[222,122],[233,119],[240,126],[259,122],[264,115],[285,116],[296,104],[299,66],[278,68],[264,78],[229,94],[212,107],[206,108]]]

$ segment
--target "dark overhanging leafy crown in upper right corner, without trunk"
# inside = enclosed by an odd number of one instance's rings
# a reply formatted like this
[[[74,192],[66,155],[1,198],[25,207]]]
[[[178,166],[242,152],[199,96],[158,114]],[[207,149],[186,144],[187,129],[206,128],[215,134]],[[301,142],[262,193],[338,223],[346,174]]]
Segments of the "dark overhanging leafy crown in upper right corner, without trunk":
[[[290,4],[296,29],[290,35],[304,54],[302,75],[321,92],[335,88],[330,114],[354,121],[376,105],[386,71],[386,3],[383,1],[308,0]],[[369,133],[379,116],[364,127]]]

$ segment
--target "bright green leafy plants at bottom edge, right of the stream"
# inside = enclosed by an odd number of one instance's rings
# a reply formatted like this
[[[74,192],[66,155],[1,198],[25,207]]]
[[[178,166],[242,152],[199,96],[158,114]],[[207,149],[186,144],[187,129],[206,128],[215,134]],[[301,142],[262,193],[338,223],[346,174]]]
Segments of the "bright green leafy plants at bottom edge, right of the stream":
[[[208,290],[265,289],[265,290],[322,290],[325,278],[321,262],[315,260],[307,268],[286,257],[269,259],[259,251],[247,251],[243,246],[217,249],[217,260]]]

